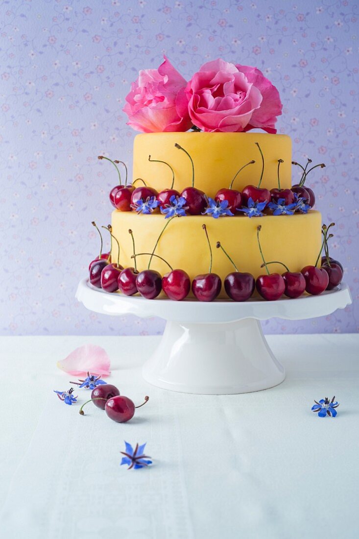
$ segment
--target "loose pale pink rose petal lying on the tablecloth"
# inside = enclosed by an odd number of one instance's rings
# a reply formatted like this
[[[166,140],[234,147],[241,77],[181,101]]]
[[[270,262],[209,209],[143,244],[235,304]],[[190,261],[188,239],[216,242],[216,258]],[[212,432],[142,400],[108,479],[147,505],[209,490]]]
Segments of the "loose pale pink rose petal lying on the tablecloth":
[[[73,376],[86,376],[87,372],[108,376],[111,372],[106,351],[95,344],[85,344],[76,348],[64,360],[58,361],[57,366]]]

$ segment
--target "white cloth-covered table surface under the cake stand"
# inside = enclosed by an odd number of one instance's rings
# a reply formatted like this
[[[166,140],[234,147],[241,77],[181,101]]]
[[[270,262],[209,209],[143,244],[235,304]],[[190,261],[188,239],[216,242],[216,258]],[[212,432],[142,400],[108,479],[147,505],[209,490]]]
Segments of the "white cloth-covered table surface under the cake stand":
[[[359,536],[359,335],[268,336],[285,382],[234,396],[144,383],[141,365],[158,338],[0,339],[5,536]],[[129,423],[114,423],[92,404],[81,417],[79,406],[52,393],[72,379],[56,362],[85,343],[107,350],[107,380],[123,395],[136,403],[150,396]],[[89,392],[78,394],[85,402]],[[313,399],[333,395],[336,418],[310,411]],[[154,465],[120,467],[124,439],[147,441]]]

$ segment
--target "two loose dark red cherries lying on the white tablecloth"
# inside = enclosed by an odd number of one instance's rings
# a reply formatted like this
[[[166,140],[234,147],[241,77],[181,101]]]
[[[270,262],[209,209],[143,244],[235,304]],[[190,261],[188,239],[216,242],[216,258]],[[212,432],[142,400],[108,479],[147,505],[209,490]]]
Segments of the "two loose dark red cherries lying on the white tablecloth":
[[[96,386],[91,392],[91,399],[82,404],[80,415],[84,416],[82,408],[85,404],[93,402],[95,406],[101,410],[105,410],[107,416],[117,423],[126,423],[133,418],[135,410],[141,408],[147,403],[149,397],[144,397],[144,402],[139,406],[135,406],[133,401],[128,397],[120,395],[120,391],[112,384],[103,384]]]

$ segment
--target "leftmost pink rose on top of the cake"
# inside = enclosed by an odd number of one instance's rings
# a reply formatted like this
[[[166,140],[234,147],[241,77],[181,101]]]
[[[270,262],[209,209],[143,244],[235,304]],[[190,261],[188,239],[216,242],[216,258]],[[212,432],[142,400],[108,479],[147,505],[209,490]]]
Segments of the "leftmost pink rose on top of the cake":
[[[192,123],[184,93],[187,82],[164,57],[156,69],[141,70],[123,111],[127,125],[143,133],[187,131]]]

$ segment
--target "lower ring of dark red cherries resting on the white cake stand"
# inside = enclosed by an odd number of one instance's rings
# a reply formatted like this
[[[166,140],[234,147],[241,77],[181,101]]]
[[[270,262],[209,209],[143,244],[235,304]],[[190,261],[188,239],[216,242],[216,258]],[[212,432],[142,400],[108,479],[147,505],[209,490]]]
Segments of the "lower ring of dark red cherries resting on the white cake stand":
[[[187,298],[190,290],[192,290],[195,298],[199,301],[215,300],[222,289],[222,280],[219,275],[212,273],[212,248],[205,224],[202,225],[202,228],[205,232],[210,253],[208,273],[197,275],[191,282],[189,275],[183,269],[172,268],[167,260],[155,254],[158,241],[174,218],[175,216],[168,219],[164,225],[151,253],[136,253],[133,232],[132,230],[128,231],[133,241],[132,258],[134,259],[134,267],[126,268],[120,265],[120,245],[112,234],[111,225],[103,226],[103,229],[111,234],[111,247],[112,240],[116,241],[118,245],[118,260],[116,263],[111,261],[111,251],[102,254],[101,232],[95,222],[92,222],[100,234],[101,248],[99,256],[89,264],[89,281],[91,284],[97,288],[102,288],[106,292],[120,291],[127,296],[140,293],[143,298],[147,299],[156,298],[163,290],[169,299],[181,301]],[[291,272],[284,262],[278,260],[266,262],[259,237],[262,227],[259,225],[257,227],[258,248],[263,260],[261,267],[265,268],[266,273],[259,275],[257,280],[250,273],[238,271],[233,259],[225,251],[220,241],[217,241],[217,248],[223,251],[235,270],[224,279],[224,289],[227,296],[233,301],[246,301],[252,296],[254,289],[257,288],[258,293],[265,300],[273,301],[278,300],[283,294],[294,299],[299,298],[304,292],[317,295],[325,290],[335,288],[342,281],[343,266],[339,261],[329,257],[328,239],[332,238],[333,234],[328,234],[328,231],[332,226],[334,226],[334,223],[330,223],[328,227],[326,225],[322,226],[323,240],[315,264],[303,267],[301,272]],[[325,249],[325,255],[321,258],[323,248]],[[137,271],[136,265],[136,258],[140,255],[149,255],[150,257],[147,269],[141,272]],[[159,272],[150,269],[153,257],[163,260],[169,266],[170,271],[163,277]],[[321,267],[317,267],[320,258]],[[282,274],[271,273],[268,268],[271,264],[280,264],[284,266],[286,271]]]

